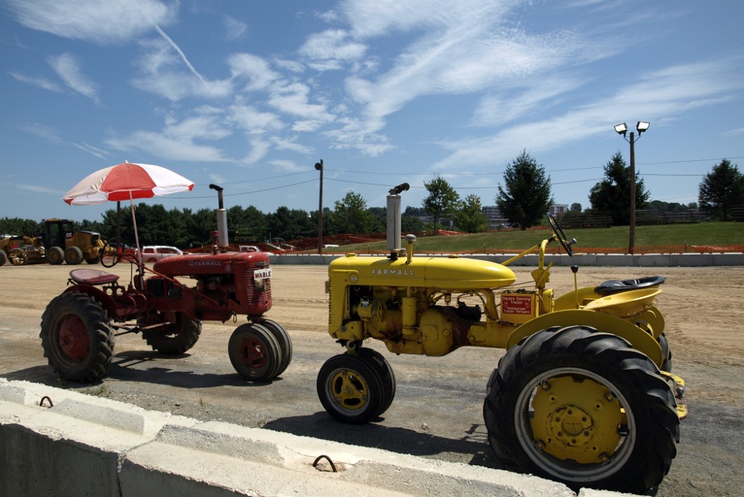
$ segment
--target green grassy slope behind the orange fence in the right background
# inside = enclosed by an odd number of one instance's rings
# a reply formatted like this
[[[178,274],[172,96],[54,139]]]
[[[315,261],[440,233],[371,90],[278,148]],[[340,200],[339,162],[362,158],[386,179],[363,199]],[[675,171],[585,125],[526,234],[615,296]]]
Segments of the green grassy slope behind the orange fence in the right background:
[[[611,228],[566,229],[569,239],[576,238],[578,248],[627,249],[628,226]],[[550,228],[533,228],[527,231],[489,231],[487,233],[455,236],[418,237],[417,252],[466,252],[478,253],[493,249],[525,250],[549,237]],[[641,225],[635,227],[635,246],[733,246],[744,244],[744,224],[741,222],[698,222],[679,225]],[[405,246],[405,241],[402,241]],[[551,244],[552,245],[552,244]],[[338,249],[326,249],[329,253],[370,253],[385,251],[385,241],[356,243]]]

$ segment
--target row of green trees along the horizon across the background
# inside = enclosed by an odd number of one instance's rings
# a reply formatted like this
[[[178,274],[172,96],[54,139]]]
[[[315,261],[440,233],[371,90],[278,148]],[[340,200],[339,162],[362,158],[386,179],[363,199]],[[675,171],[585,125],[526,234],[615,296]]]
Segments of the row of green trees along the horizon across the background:
[[[604,165],[604,177],[591,187],[591,207],[583,209],[574,203],[565,216],[604,213],[609,214],[612,225],[629,224],[629,198],[631,171],[620,152]],[[703,177],[699,185],[699,202],[680,205],[650,200],[651,193],[644,181],[635,179],[635,204],[638,210],[658,208],[664,211],[699,208],[711,219],[731,220],[737,208],[744,204],[744,175],[737,165],[722,159],[713,165],[711,172]],[[433,230],[437,233],[444,221],[453,229],[477,233],[489,227],[484,215],[481,198],[470,194],[461,199],[446,179],[436,176],[424,182],[428,196],[420,208],[408,206],[403,212],[402,230],[411,233]],[[542,164],[538,164],[527,151],[517,156],[504,171],[503,185],[498,185],[494,199],[501,214],[514,228],[527,229],[544,222],[545,213],[554,203],[550,176]],[[385,231],[386,209],[368,207],[365,199],[353,191],[343,199],[336,200],[333,209],[323,210],[323,234],[368,234]],[[139,239],[142,245],[175,245],[179,247],[203,246],[211,243],[211,231],[216,228],[214,210],[204,208],[166,210],[163,205],[140,203],[136,206]],[[227,209],[228,229],[231,240],[263,242],[272,239],[299,240],[318,236],[318,211],[304,211],[280,207],[275,212],[264,214],[253,205],[243,208],[236,205]],[[424,222],[430,217],[431,222]],[[97,231],[103,237],[120,236],[134,240],[134,231],[129,208],[118,212],[106,211],[100,221],[88,219],[79,222],[77,228]],[[568,220],[568,219],[567,219]],[[0,219],[0,234],[35,235],[43,231],[42,222],[32,219]]]

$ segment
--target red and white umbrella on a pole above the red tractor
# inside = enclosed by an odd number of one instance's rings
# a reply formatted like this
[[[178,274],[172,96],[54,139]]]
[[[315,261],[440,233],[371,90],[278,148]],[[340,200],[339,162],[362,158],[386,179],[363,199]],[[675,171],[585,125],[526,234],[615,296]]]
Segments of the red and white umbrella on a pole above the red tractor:
[[[70,205],[92,205],[128,199],[132,205],[135,243],[139,253],[134,199],[150,199],[188,190],[193,190],[193,182],[165,167],[123,162],[86,176],[62,200]]]

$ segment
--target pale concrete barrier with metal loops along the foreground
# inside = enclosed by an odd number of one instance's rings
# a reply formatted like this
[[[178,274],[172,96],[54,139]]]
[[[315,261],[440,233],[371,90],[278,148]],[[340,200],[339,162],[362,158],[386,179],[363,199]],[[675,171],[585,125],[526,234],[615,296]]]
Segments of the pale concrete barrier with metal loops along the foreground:
[[[0,378],[0,496],[42,495],[576,496],[530,475],[202,423]]]

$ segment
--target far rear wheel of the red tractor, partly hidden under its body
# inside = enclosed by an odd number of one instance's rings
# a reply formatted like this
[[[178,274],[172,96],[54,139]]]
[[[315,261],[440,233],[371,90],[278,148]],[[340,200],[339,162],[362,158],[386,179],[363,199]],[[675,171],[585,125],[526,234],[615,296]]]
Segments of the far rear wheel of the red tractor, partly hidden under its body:
[[[172,321],[161,312],[137,321],[140,326],[157,323],[163,326],[142,330],[142,338],[153,350],[166,356],[179,356],[190,350],[202,334],[202,321],[194,321],[183,312],[176,312]]]

